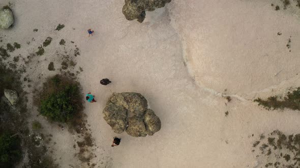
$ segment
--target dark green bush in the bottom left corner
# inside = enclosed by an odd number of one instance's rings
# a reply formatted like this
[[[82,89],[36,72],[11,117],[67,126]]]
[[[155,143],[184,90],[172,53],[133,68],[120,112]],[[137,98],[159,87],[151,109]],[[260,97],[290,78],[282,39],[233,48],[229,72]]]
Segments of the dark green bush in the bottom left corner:
[[[9,133],[0,135],[0,167],[12,167],[21,158],[20,140]]]

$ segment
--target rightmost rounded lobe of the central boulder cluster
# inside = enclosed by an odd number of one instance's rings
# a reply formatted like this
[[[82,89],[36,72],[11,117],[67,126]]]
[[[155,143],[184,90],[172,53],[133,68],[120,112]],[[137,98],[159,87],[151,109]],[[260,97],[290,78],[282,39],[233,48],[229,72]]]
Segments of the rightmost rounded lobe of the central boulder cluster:
[[[148,135],[153,135],[161,129],[161,121],[158,116],[155,115],[154,111],[151,109],[146,110],[144,116],[144,123],[146,128],[146,133]]]

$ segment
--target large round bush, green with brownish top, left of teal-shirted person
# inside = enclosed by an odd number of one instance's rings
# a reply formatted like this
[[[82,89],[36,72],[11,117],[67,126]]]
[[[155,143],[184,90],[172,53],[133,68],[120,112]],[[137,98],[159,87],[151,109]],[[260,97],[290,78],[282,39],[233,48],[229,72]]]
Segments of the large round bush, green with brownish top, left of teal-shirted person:
[[[40,113],[54,121],[70,121],[83,108],[79,83],[67,76],[49,78],[38,97]]]

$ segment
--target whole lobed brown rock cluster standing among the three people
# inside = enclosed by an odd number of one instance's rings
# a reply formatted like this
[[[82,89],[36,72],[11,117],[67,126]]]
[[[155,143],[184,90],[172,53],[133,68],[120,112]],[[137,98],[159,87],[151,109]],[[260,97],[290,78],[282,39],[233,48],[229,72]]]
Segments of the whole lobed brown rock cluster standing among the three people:
[[[114,93],[106,103],[103,118],[115,133],[126,129],[133,137],[154,135],[161,129],[161,121],[147,106],[147,100],[139,93]]]

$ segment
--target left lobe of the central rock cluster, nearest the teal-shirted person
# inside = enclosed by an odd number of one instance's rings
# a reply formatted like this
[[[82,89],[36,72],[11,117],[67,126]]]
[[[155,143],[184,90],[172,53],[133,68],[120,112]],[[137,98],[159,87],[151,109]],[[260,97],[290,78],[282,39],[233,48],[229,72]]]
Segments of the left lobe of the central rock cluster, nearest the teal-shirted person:
[[[103,118],[117,134],[123,133],[126,129],[127,110],[123,106],[118,106],[110,101],[107,102],[103,110]]]

